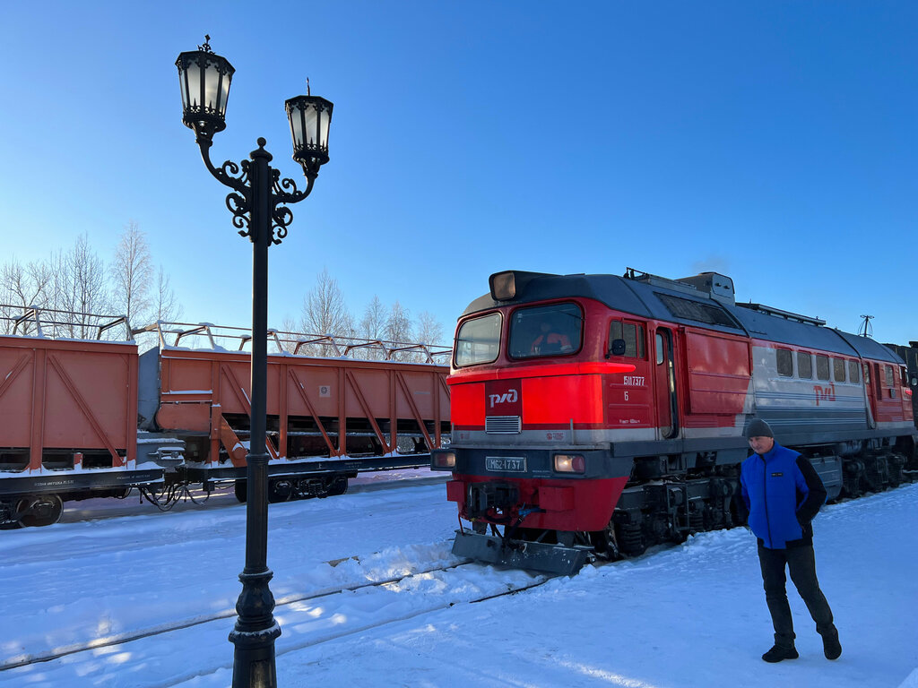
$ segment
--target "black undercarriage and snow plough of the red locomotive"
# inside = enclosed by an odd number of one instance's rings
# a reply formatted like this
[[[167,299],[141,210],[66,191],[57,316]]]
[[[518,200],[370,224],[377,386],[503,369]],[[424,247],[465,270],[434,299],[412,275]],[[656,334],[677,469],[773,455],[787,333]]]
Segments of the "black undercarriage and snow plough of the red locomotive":
[[[829,501],[918,481],[918,455],[910,440],[793,449],[811,460],[826,485]],[[666,467],[674,465],[693,468],[667,473]],[[739,464],[719,465],[713,452],[636,459],[632,479],[621,493],[610,524],[601,531],[522,527],[524,517],[537,509],[521,505],[514,484],[473,483],[465,516],[472,521],[474,535],[457,532],[453,551],[477,560],[571,574],[590,559],[633,557],[656,544],[742,526],[746,515],[741,500]]]

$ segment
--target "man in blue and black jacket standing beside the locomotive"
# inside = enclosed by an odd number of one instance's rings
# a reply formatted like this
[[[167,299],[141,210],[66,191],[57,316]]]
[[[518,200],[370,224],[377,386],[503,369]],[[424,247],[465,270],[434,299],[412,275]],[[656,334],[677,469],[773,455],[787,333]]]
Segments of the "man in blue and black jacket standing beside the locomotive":
[[[829,660],[842,654],[832,609],[819,589],[812,549],[813,516],[825,502],[825,487],[810,461],[775,441],[764,420],[746,428],[753,455],[743,462],[740,483],[749,511],[749,527],[758,538],[758,560],[765,583],[765,599],[775,626],[775,646],[762,659],[796,660],[794,625],[785,589],[785,568],[810,610],[816,631],[823,637]]]

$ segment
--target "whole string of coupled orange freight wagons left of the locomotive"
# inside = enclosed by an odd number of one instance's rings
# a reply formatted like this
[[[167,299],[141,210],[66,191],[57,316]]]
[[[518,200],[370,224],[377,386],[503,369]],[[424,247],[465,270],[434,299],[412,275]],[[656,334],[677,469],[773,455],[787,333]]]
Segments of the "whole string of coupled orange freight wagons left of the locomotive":
[[[192,486],[209,494],[234,482],[244,501],[246,330],[132,331],[122,316],[3,305],[0,320],[9,333],[0,336],[0,528],[47,526],[65,501],[133,488],[168,508]],[[116,330],[121,340],[103,339]],[[139,355],[134,335],[159,346]],[[342,494],[358,472],[427,466],[448,437],[448,369],[434,362],[448,348],[269,337],[277,347],[268,357],[270,501]],[[428,362],[353,358],[370,350]]]

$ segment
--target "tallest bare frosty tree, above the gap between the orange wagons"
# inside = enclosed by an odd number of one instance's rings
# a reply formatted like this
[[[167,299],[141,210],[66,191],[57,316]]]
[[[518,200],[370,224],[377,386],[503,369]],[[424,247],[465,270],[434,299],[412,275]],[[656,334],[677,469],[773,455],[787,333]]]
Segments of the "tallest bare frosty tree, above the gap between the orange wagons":
[[[131,220],[118,242],[112,261],[112,305],[128,321],[140,323],[149,318],[155,294],[151,294],[155,270],[146,236]],[[161,271],[162,278],[162,271]],[[152,296],[152,298],[151,298]]]

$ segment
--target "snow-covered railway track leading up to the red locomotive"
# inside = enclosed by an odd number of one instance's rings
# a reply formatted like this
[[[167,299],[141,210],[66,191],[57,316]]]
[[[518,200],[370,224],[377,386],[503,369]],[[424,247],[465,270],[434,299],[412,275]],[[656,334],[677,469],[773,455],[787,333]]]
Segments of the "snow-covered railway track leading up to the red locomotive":
[[[331,560],[325,563],[331,567],[337,567],[349,560],[359,562],[360,558],[351,557],[339,560]],[[300,623],[300,621],[297,620],[297,616],[300,616],[307,608],[314,609],[318,605],[322,605],[322,608],[326,610],[327,614],[335,614],[333,610],[336,608],[336,606],[341,606],[335,604],[334,598],[336,596],[339,598],[348,594],[362,594],[365,596],[367,594],[375,594],[375,591],[379,591],[378,594],[382,594],[384,597],[386,594],[390,593],[409,592],[416,597],[427,597],[428,599],[426,604],[415,605],[409,609],[399,607],[396,610],[396,613],[382,617],[375,617],[372,621],[367,623],[359,623],[355,627],[343,627],[341,630],[338,630],[334,633],[320,633],[317,637],[303,638],[301,641],[286,644],[285,646],[279,647],[277,649],[277,654],[281,655],[285,652],[308,648],[310,646],[319,645],[330,640],[363,633],[366,630],[375,627],[382,627],[390,623],[412,618],[414,616],[429,614],[431,612],[449,608],[458,603],[476,603],[503,595],[519,593],[523,590],[528,590],[533,587],[542,585],[551,578],[547,575],[530,576],[528,574],[522,574],[518,571],[516,572],[517,577],[523,579],[520,584],[505,583],[503,580],[495,580],[495,584],[492,587],[488,588],[487,590],[481,590],[479,594],[470,595],[468,594],[467,586],[464,584],[465,578],[463,577],[462,572],[468,567],[480,568],[480,566],[480,564],[476,564],[471,560],[459,560],[447,566],[439,565],[430,568],[421,568],[417,571],[409,571],[404,574],[390,576],[383,580],[369,581],[365,583],[353,583],[342,585],[340,587],[319,589],[311,591],[308,594],[288,594],[280,597],[275,601],[276,605],[274,608],[274,616],[279,620],[285,617],[287,618],[287,623],[282,624],[282,626],[286,626],[288,623]],[[423,591],[423,588],[425,587],[424,582],[434,579],[437,581],[437,587],[441,587],[442,591],[437,595],[425,594]],[[450,579],[455,579],[454,583],[451,583]],[[364,600],[364,606],[373,608],[375,607],[375,604],[366,605],[366,601]],[[386,606],[386,602],[381,601],[380,606]],[[9,661],[4,664],[0,664],[0,680],[2,680],[4,673],[7,671],[23,669],[54,660],[61,660],[63,658],[71,658],[71,660],[79,661],[79,659],[74,659],[74,657],[80,655],[81,653],[97,655],[100,652],[117,652],[120,646],[126,646],[129,643],[139,642],[150,638],[157,638],[160,636],[185,631],[187,629],[196,628],[196,631],[200,632],[200,627],[214,625],[218,627],[216,631],[218,635],[225,635],[225,626],[219,622],[225,621],[226,619],[234,616],[236,616],[235,610],[226,609],[211,615],[201,616],[191,620],[185,620],[156,627],[148,627],[117,635],[111,635],[106,638],[96,638],[84,643],[71,645],[61,649],[55,649],[53,651],[39,655],[32,655],[21,660]],[[182,679],[182,681],[185,681],[185,679]]]

